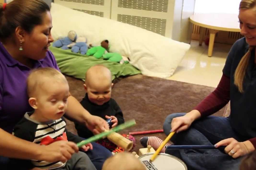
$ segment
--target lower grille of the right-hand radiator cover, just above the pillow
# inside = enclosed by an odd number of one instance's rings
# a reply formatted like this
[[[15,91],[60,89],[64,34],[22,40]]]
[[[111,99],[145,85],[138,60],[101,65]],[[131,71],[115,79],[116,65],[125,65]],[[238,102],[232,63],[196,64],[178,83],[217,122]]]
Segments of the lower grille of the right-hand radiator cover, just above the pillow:
[[[163,19],[117,14],[117,21],[165,36],[166,20]]]

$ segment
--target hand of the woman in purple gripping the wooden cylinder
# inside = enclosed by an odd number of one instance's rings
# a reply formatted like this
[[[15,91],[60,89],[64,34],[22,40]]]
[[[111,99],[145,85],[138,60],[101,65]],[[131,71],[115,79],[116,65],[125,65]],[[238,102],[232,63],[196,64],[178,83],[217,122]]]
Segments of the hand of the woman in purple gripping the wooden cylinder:
[[[99,116],[87,116],[85,124],[88,129],[93,132],[93,134],[104,132],[105,129],[109,130],[108,123]]]

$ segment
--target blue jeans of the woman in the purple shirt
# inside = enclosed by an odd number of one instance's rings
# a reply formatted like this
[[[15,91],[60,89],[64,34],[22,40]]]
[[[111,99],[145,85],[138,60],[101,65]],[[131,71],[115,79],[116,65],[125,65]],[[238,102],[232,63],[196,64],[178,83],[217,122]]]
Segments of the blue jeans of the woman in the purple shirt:
[[[108,157],[112,156],[112,153],[100,144],[95,142],[91,143],[93,145],[93,150],[88,150],[84,152],[92,161],[96,170],[101,170],[102,165]],[[9,158],[0,156],[0,170],[7,170],[7,164],[9,163]]]

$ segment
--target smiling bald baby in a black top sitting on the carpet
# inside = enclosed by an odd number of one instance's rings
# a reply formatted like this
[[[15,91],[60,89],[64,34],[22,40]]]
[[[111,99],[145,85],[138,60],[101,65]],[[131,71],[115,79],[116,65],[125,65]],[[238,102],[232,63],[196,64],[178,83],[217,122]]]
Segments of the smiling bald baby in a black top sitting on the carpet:
[[[111,119],[112,127],[124,123],[119,105],[111,98],[111,71],[104,65],[94,65],[85,74],[84,90],[86,92],[81,105],[94,116]],[[79,136],[89,138],[93,133],[84,125],[76,124]]]

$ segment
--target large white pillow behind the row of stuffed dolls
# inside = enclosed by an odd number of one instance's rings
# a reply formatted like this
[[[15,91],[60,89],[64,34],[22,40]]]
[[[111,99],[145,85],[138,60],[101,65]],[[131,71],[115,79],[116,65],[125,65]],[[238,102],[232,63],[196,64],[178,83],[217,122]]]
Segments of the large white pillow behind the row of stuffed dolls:
[[[108,40],[110,52],[129,57],[142,74],[166,78],[172,76],[189,44],[115,20],[98,17],[52,3],[52,36],[67,36],[71,30],[84,35],[93,45]]]

